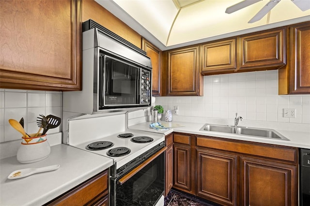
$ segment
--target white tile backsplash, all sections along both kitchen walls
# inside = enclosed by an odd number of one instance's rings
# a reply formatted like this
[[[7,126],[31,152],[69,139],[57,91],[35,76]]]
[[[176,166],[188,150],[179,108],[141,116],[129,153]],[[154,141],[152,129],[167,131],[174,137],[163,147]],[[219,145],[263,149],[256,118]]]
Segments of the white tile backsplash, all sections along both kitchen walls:
[[[278,70],[204,76],[203,89],[202,97],[156,97],[152,105],[161,104],[165,110],[179,106],[175,120],[233,122],[237,112],[252,123],[280,123],[283,127],[309,127],[310,131],[310,95],[278,95]],[[284,118],[284,108],[295,109],[296,118]],[[0,89],[0,142],[21,137],[9,124],[10,118],[19,121],[23,117],[26,132],[34,133],[40,114],[62,117],[62,92]],[[130,112],[128,124],[148,121],[149,117],[150,108]],[[48,133],[53,132],[62,132],[62,127]]]

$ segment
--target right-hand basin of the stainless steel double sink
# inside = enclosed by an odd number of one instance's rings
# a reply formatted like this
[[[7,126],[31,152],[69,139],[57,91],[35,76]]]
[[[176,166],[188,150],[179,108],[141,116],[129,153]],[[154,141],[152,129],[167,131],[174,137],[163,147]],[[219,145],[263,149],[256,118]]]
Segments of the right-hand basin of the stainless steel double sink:
[[[271,139],[282,139],[289,140],[279,132],[271,129],[260,129],[260,128],[248,128],[248,127],[237,127],[238,134],[248,135],[248,136],[258,136]]]

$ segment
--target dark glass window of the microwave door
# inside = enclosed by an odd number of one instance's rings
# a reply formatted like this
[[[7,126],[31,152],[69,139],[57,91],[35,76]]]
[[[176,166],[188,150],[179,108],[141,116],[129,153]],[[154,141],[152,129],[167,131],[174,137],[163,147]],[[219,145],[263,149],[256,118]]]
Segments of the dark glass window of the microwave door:
[[[139,68],[105,56],[105,105],[136,104]]]

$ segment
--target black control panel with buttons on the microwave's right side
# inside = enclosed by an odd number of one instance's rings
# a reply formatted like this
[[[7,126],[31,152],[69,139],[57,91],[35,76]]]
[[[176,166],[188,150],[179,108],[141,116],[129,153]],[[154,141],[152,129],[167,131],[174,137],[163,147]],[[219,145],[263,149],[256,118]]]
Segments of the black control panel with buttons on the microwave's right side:
[[[141,69],[140,73],[140,103],[149,104],[151,98],[151,72]]]

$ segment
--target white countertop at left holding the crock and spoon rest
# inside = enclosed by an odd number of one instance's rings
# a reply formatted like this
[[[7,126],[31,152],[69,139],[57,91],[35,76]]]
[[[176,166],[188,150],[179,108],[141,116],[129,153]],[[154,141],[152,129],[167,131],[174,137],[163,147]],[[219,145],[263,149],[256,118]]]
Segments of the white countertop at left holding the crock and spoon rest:
[[[15,170],[60,164],[55,171],[7,179]],[[0,160],[0,205],[40,206],[112,166],[110,158],[67,145],[51,147],[47,159],[22,164],[16,156]]]

